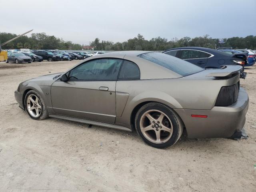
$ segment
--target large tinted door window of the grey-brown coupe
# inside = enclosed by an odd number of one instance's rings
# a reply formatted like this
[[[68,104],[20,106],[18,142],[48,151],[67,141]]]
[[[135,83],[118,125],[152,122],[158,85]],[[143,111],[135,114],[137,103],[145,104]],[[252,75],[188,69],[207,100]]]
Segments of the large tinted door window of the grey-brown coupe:
[[[104,58],[88,61],[71,70],[70,81],[116,81],[122,59]]]

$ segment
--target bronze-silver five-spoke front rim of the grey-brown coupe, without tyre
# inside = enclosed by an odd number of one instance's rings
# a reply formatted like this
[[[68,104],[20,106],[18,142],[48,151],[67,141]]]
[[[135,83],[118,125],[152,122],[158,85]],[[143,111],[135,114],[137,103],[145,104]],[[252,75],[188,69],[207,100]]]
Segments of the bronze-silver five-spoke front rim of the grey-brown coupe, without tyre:
[[[27,109],[31,116],[39,117],[42,112],[42,104],[38,97],[34,94],[31,94],[27,98]]]

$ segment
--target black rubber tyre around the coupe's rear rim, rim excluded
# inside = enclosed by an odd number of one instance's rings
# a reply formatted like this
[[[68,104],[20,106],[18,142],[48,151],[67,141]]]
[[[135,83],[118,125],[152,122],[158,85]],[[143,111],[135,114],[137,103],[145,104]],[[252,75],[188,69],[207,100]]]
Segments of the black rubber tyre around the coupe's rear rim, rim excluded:
[[[142,132],[140,130],[140,118],[141,118],[142,114],[144,114],[148,110],[159,110],[159,111],[163,112],[164,114],[166,114],[168,116],[168,118],[170,118],[170,120],[172,122],[173,131],[172,131],[172,136],[170,137],[170,139],[168,141],[161,143],[161,144],[156,144],[156,143],[153,143],[150,140],[148,140],[142,134]],[[178,114],[174,110],[172,110],[172,108],[170,108],[162,103],[158,103],[158,102],[150,102],[148,104],[145,104],[138,110],[138,112],[136,113],[136,116],[135,116],[136,132],[144,140],[144,142],[146,142],[148,145],[155,147],[155,148],[167,148],[167,147],[174,145],[179,140],[180,136],[182,135],[183,127],[184,127],[184,124],[183,124],[181,118],[178,116]]]

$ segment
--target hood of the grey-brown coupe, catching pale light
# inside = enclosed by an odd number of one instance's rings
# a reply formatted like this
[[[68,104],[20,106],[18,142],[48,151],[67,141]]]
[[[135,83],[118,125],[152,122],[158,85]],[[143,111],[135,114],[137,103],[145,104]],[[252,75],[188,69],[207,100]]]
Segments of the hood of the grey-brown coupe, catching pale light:
[[[47,75],[43,75],[43,76],[39,76],[36,78],[32,78],[30,80],[27,80],[26,82],[34,82],[40,86],[50,86],[52,85],[58,78],[54,78],[54,77],[58,77],[60,76],[62,73],[54,73],[54,74],[47,74]]]

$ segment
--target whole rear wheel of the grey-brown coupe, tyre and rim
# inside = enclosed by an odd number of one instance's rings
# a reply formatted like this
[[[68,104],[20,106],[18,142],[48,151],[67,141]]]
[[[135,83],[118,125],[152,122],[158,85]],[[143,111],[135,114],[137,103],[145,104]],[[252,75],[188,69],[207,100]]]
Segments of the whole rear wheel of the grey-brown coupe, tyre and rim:
[[[183,122],[170,107],[150,102],[135,117],[138,135],[150,146],[166,148],[174,145],[183,132]]]

